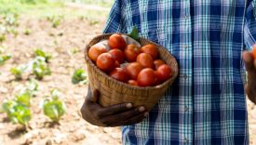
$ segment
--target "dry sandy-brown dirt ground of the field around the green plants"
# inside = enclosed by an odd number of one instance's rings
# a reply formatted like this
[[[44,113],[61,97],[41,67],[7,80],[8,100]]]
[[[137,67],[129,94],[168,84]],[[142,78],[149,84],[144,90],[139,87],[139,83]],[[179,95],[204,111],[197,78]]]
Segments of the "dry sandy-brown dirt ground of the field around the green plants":
[[[12,54],[12,59],[0,66],[0,102],[6,98],[13,98],[20,86],[26,83],[14,81],[9,69],[19,64],[27,63],[33,58],[34,48],[40,47],[50,52],[53,59],[50,60],[52,74],[39,82],[40,90],[33,98],[33,119],[28,132],[17,132],[18,125],[7,121],[6,114],[0,114],[0,145],[15,144],[86,144],[86,145],[118,145],[121,144],[120,128],[103,128],[89,125],[80,115],[80,107],[87,94],[87,85],[73,85],[71,77],[75,69],[86,69],[83,58],[84,46],[93,36],[101,33],[104,20],[92,24],[88,20],[68,19],[61,20],[58,28],[52,28],[46,19],[20,18],[18,36],[7,36],[4,43],[7,52]],[[23,34],[25,29],[31,30],[30,35]],[[62,33],[62,34],[61,34]],[[77,47],[78,53],[70,51]],[[51,88],[59,88],[63,100],[67,106],[67,113],[61,118],[61,125],[51,126],[49,119],[40,109],[40,103],[49,94]],[[256,106],[248,103],[249,108],[249,132],[250,145],[256,145]]]

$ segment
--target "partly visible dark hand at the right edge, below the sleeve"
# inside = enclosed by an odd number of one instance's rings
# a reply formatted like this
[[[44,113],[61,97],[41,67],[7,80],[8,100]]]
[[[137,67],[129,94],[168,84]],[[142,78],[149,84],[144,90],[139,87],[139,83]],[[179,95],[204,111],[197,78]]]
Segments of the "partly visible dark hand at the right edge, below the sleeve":
[[[248,83],[245,89],[249,99],[256,104],[256,59],[252,58],[249,51],[243,52],[243,59],[248,72]]]

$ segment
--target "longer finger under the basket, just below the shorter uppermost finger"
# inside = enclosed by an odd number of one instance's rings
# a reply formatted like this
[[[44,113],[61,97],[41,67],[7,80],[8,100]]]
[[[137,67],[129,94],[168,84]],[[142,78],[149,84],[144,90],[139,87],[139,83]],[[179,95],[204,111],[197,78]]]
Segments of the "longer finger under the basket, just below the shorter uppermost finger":
[[[115,124],[118,124],[118,122],[120,123],[125,122],[129,118],[132,118],[141,113],[143,114],[144,112],[145,112],[144,107],[139,107],[139,108],[132,109],[128,112],[121,112],[118,114],[106,116],[101,121],[104,125],[115,125]]]

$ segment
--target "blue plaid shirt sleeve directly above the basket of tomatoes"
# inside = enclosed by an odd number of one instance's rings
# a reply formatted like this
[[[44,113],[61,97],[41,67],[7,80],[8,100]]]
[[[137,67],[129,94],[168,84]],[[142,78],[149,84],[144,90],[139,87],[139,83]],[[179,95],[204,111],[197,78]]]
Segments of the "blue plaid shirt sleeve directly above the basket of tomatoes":
[[[105,24],[103,33],[127,33],[122,1],[115,0]]]

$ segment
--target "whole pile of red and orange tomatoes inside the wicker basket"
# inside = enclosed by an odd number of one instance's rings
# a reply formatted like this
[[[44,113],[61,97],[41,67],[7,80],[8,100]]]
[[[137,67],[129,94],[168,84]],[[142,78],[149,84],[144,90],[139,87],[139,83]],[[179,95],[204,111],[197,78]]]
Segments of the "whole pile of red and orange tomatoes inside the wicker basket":
[[[88,57],[102,72],[131,86],[157,86],[172,75],[171,68],[159,59],[155,45],[141,46],[132,38],[118,33],[91,46]]]

